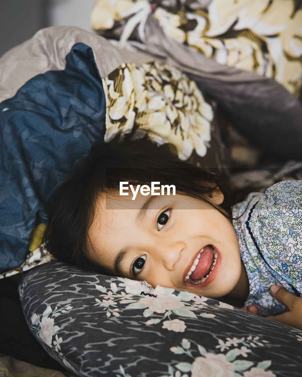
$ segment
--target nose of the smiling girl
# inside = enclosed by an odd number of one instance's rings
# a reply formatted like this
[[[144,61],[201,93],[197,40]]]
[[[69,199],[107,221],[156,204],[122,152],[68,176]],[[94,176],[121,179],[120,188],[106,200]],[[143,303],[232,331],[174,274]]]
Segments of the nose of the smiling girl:
[[[167,270],[173,271],[181,254],[185,250],[186,244],[183,241],[160,240],[157,241],[152,254],[157,263],[162,264]]]

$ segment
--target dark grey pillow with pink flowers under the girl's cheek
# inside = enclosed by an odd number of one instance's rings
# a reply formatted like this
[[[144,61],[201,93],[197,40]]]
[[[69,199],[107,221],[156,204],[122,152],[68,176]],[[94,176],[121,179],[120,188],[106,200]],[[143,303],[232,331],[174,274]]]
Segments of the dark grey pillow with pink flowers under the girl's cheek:
[[[223,302],[58,261],[19,289],[32,333],[76,375],[300,375],[302,331]]]

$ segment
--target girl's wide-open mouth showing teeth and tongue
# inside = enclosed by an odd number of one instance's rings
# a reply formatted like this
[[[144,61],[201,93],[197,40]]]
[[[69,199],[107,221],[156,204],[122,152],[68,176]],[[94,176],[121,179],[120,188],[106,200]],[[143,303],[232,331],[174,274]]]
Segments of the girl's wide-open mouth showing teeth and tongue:
[[[206,245],[199,251],[192,267],[187,272],[185,282],[194,285],[205,282],[216,266],[217,257],[218,253],[213,245]]]

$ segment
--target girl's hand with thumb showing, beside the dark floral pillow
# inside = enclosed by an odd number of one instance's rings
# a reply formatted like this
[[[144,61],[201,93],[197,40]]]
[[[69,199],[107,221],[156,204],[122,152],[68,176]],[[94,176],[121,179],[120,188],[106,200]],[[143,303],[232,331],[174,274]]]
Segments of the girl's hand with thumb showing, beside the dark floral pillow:
[[[271,293],[279,302],[287,306],[289,311],[278,314],[277,316],[268,316],[265,318],[302,330],[302,298],[295,296],[279,285],[272,285]],[[259,314],[259,310],[255,305],[241,309],[253,314]]]

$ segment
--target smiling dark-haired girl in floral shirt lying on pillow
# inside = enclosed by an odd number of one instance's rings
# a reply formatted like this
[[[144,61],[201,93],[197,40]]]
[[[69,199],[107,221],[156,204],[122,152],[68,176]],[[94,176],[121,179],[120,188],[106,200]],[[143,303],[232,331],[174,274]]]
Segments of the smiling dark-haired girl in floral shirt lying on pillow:
[[[95,148],[51,207],[49,251],[98,273],[254,305],[262,316],[287,311],[270,292],[282,285],[297,297],[290,316],[299,313],[292,325],[301,326],[302,182],[231,206],[217,175],[172,148],[147,139]]]

